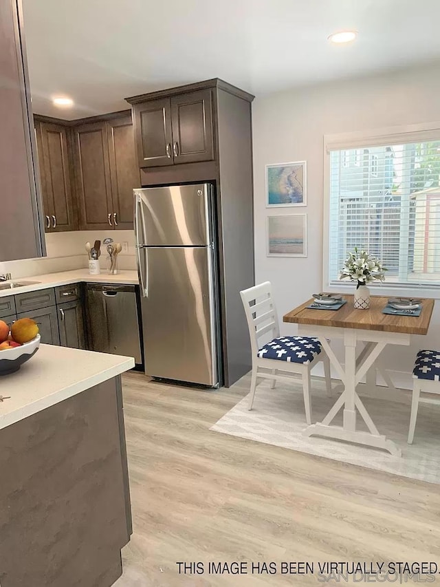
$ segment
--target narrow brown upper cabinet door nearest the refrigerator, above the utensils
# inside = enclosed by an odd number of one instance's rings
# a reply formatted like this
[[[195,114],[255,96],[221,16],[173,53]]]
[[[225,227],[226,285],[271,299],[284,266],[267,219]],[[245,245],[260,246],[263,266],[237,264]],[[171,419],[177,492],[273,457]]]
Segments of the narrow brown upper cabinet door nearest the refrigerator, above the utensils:
[[[133,188],[140,187],[133,123],[131,116],[107,122],[110,157],[113,226],[122,230],[133,228]]]

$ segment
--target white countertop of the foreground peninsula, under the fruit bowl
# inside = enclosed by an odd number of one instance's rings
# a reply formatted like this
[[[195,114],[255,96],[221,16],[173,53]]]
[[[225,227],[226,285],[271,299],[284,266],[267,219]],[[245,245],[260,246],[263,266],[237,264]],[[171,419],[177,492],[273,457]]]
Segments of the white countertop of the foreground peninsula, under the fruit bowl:
[[[0,402],[0,429],[134,366],[131,356],[40,345],[19,371],[0,376],[0,396],[10,396]]]

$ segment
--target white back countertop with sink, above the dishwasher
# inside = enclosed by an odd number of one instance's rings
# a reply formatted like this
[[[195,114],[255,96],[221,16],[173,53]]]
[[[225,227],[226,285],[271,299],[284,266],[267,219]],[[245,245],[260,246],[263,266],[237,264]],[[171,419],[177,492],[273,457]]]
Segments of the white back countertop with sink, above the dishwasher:
[[[121,271],[118,275],[107,275],[106,273],[90,275],[88,269],[75,269],[73,271],[63,271],[62,273],[47,273],[45,275],[33,275],[32,277],[19,277],[17,279],[12,279],[11,281],[39,281],[40,283],[23,286],[21,288],[0,290],[0,297],[23,292],[34,292],[36,290],[44,290],[47,288],[55,288],[57,286],[65,286],[68,284],[77,284],[80,281],[87,281],[87,283],[90,284],[135,285],[139,283],[139,278],[137,276],[137,271]]]

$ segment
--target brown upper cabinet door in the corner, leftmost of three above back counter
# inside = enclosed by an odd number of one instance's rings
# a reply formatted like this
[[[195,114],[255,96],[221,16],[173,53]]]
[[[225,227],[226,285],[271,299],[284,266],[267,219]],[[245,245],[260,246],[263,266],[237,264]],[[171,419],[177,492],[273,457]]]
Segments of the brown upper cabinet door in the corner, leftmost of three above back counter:
[[[36,122],[46,232],[77,231],[69,162],[69,127]]]

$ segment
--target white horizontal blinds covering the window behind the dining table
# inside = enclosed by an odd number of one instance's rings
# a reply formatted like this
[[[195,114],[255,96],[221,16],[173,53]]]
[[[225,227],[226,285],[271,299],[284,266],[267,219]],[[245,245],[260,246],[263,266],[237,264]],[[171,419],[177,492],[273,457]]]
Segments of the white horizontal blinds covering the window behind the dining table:
[[[388,284],[440,285],[439,180],[440,134],[330,149],[329,282],[357,246],[388,268]]]

